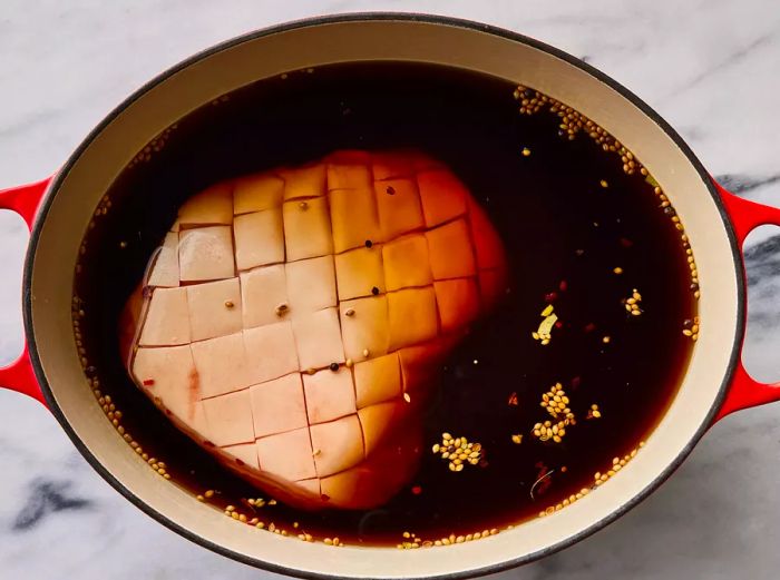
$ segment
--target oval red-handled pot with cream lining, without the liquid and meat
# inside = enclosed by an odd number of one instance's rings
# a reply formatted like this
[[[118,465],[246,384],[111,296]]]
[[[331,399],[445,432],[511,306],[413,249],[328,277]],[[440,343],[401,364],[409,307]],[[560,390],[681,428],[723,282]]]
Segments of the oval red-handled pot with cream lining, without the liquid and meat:
[[[696,256],[701,331],[681,387],[642,453],[597,493],[479,542],[427,550],[333,549],[238,525],[154,473],[117,434],[88,387],[71,328],[82,235],[101,197],[155,136],[194,109],[259,79],[337,62],[445,65],[534,87],[593,119],[631,149],[674,204]],[[461,578],[521,564],[612,522],[663,482],[714,421],[780,399],[740,354],[745,326],[742,243],[780,209],[715,184],[647,105],[560,50],[485,24],[411,14],[349,14],[230,40],[162,73],[119,105],[50,178],[0,193],[30,227],[22,308],[27,345],[0,383],[47,405],[89,463],[139,509],[218,553],[308,578]]]

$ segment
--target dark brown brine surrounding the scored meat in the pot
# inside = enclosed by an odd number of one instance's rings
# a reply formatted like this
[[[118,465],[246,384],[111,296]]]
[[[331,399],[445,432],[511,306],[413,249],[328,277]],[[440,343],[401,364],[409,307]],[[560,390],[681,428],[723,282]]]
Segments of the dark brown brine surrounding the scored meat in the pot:
[[[698,286],[652,178],[628,175],[625,156],[589,130],[569,139],[549,104],[521,115],[534,92],[515,91],[505,80],[408,63],[292,72],[203,107],[142,151],[87,233],[75,288],[88,374],[121,411],[126,439],[164,461],[173,484],[216,490],[206,501],[220,509],[351,544],[500,530],[594,488],[594,472],[635,449],[673,399],[693,345],[681,331],[693,327]],[[119,312],[191,195],[333,150],[399,148],[447,164],[489,214],[508,255],[506,299],[440,370],[425,416],[428,449],[397,497],[365,512],[255,509],[242,500],[264,492],[221,468],[133,384],[116,344]],[[626,302],[635,291],[641,315]],[[548,304],[558,321],[543,345],[533,333]],[[556,383],[576,424],[560,442],[542,441],[533,429],[557,423],[540,406]],[[431,451],[442,433],[479,442],[480,464],[448,469]]]

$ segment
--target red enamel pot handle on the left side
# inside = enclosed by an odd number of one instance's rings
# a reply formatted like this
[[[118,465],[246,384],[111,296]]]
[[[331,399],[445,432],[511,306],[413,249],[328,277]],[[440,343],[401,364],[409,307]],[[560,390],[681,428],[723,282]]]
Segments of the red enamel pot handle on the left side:
[[[38,205],[43,194],[46,194],[50,181],[51,177],[48,177],[36,184],[0,190],[0,209],[11,209],[16,212],[27,224],[28,230],[32,229],[32,222],[35,220]],[[25,348],[19,358],[8,366],[0,368],[0,389],[2,387],[25,393],[46,405],[43,393],[40,386],[38,386],[36,374],[32,371],[27,341],[25,342]]]

